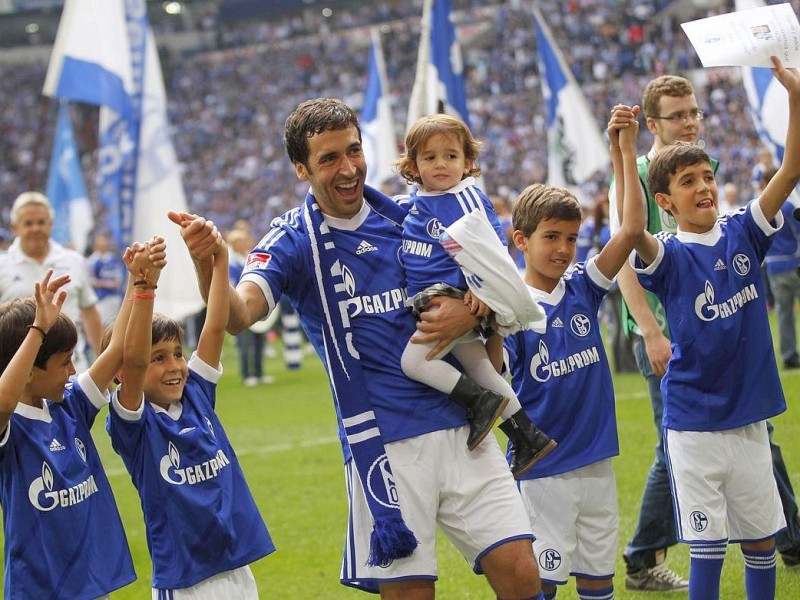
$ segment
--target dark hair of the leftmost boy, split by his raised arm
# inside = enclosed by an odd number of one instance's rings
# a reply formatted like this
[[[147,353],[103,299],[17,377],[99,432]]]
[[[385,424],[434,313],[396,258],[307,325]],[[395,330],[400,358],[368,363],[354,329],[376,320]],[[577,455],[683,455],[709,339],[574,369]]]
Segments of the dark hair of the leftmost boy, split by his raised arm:
[[[17,298],[0,305],[0,373],[6,370],[22,345],[36,317],[36,301],[32,297]],[[44,336],[33,366],[43,369],[51,356],[69,352],[78,343],[78,330],[63,312]]]

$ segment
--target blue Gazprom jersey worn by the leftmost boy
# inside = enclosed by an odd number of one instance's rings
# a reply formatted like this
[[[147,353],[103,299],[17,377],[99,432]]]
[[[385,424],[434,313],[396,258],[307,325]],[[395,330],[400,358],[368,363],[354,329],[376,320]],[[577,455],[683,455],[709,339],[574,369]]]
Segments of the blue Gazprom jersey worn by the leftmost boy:
[[[90,433],[106,405],[82,373],[63,402],[11,415],[0,441],[6,598],[88,600],[136,579]]]

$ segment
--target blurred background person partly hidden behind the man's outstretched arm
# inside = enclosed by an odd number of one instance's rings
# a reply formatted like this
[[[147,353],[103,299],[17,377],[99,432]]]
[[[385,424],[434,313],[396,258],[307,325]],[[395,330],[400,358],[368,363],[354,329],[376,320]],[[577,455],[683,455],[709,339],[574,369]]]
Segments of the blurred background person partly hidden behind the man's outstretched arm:
[[[254,245],[253,238],[243,229],[234,229],[228,234],[230,247],[228,276],[233,286],[239,283],[245,259]],[[245,387],[274,381],[273,377],[264,374],[264,349],[267,337],[266,329],[261,324],[261,321],[256,321],[250,328],[236,335],[239,371]]]

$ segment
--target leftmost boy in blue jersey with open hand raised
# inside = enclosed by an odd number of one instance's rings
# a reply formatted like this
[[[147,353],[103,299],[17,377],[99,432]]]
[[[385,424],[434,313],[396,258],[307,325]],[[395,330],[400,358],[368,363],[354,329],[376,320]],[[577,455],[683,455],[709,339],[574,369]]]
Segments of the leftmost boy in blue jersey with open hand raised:
[[[75,374],[69,275],[0,306],[0,504],[6,598],[94,599],[136,579],[90,429],[122,358],[120,327]],[[124,320],[125,316],[122,315]]]

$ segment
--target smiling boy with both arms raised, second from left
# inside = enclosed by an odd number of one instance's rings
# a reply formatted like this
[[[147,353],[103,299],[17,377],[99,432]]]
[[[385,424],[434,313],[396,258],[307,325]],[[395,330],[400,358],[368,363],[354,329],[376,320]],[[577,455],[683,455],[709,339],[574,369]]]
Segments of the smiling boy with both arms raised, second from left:
[[[123,258],[135,293],[108,430],[141,499],[153,598],[256,599],[248,564],[275,547],[214,412],[227,247],[220,241],[214,254],[206,321],[188,364],[178,322],[153,313],[161,269],[147,244]]]

